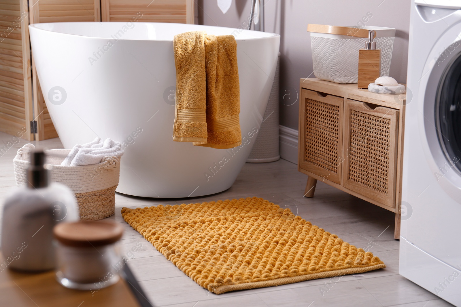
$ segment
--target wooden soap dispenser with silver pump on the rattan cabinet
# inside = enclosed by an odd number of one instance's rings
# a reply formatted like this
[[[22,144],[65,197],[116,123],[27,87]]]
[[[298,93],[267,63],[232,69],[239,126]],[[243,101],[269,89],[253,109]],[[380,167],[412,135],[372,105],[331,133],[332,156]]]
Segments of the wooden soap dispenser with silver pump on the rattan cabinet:
[[[374,30],[368,31],[368,41],[365,49],[359,50],[359,81],[358,88],[368,88],[368,84],[373,83],[381,76],[381,49],[376,49]]]

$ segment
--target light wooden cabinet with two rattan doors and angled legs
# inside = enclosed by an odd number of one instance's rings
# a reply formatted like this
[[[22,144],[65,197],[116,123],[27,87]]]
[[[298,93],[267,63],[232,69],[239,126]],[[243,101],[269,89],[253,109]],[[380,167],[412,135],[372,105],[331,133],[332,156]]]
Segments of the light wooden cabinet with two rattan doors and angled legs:
[[[301,79],[298,170],[396,213],[400,229],[404,95]]]

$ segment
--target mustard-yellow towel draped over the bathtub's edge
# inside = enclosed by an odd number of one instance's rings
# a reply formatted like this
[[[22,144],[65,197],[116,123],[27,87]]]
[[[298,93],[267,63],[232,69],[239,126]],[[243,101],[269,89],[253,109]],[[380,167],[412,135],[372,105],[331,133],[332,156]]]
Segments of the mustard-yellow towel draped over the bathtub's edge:
[[[175,35],[173,141],[218,149],[242,144],[237,44],[232,35]]]

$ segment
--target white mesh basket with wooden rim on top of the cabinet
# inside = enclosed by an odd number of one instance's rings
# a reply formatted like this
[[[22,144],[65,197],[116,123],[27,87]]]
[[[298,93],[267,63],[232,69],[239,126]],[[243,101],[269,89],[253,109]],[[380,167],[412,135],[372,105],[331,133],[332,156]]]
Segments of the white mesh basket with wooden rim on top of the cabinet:
[[[368,41],[368,30],[375,30],[373,41],[381,49],[381,76],[389,75],[396,29],[309,24],[314,75],[336,83],[357,83],[359,49]]]

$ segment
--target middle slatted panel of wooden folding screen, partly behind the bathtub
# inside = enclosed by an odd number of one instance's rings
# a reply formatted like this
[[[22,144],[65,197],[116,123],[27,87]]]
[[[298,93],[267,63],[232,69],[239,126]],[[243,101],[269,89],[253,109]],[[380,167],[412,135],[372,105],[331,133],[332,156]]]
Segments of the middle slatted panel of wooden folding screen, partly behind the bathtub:
[[[30,0],[29,10],[30,23],[101,21],[100,0]],[[56,138],[58,133],[56,133],[53,122],[51,122],[33,61],[32,78],[34,80],[33,88],[36,102],[34,104],[34,114],[37,117],[35,139]]]

